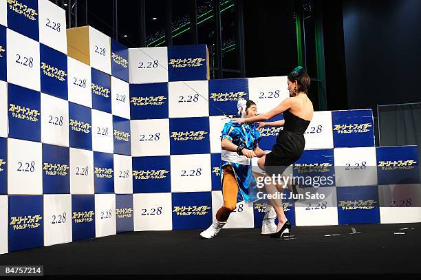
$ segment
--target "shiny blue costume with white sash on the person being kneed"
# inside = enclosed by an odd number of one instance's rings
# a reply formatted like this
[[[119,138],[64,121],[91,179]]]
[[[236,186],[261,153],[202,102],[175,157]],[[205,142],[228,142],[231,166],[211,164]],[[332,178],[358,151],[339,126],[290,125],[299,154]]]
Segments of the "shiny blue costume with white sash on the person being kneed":
[[[227,122],[222,130],[221,140],[228,138],[234,144],[239,146],[244,145],[244,148],[254,150],[261,139],[260,131],[257,130],[257,125],[254,123],[234,123]],[[255,202],[257,198],[257,182],[252,172],[251,159],[245,155],[238,155],[236,152],[222,150],[221,153],[221,168],[219,175],[221,177],[221,184],[223,180],[222,167],[230,165],[233,167],[235,179],[239,187],[237,195],[237,202]]]

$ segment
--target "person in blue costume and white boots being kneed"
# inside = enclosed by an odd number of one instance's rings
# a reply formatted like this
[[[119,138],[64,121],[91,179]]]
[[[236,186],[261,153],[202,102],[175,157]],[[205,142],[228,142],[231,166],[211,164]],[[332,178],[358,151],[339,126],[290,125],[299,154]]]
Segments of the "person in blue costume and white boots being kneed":
[[[243,118],[257,115],[257,107],[252,100],[239,100],[237,108]],[[224,205],[217,211],[215,222],[200,233],[204,238],[213,238],[219,233],[230,213],[235,210],[237,202],[258,200],[259,189],[253,175],[251,158],[260,158],[266,153],[258,146],[261,135],[257,127],[255,123],[239,124],[230,121],[222,130],[222,161],[219,172]]]

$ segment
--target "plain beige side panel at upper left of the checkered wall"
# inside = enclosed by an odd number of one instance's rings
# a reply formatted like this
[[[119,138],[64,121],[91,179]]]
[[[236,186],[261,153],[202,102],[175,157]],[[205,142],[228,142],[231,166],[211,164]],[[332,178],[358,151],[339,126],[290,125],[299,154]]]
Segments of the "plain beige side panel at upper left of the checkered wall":
[[[67,55],[91,65],[89,58],[89,27],[70,28],[67,32]]]

